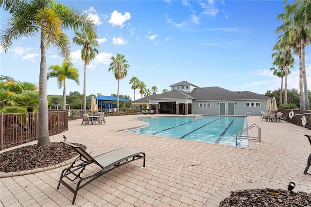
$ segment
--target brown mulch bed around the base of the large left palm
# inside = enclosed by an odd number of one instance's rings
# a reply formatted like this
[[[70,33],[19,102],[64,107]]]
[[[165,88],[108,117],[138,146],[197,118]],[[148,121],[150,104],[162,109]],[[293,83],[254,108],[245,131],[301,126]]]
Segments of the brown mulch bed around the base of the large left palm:
[[[85,145],[77,144],[86,149]],[[66,150],[60,142],[37,147],[27,145],[0,154],[0,172],[18,172],[56,165],[78,155],[74,150]]]

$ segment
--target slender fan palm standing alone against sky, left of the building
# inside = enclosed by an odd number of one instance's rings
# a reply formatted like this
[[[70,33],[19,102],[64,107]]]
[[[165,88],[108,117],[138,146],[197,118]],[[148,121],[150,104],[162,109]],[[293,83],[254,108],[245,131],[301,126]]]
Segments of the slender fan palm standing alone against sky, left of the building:
[[[127,69],[129,65],[127,64],[127,60],[124,59],[124,55],[117,53],[117,56],[111,56],[112,62],[110,63],[110,68],[108,72],[113,71],[116,80],[118,80],[118,93],[117,93],[117,111],[119,112],[119,86],[120,80],[127,76]]]

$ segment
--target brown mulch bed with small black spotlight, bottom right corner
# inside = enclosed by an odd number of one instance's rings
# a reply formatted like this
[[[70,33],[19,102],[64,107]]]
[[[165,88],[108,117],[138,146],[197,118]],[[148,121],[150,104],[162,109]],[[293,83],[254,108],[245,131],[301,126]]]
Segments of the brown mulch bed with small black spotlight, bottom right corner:
[[[220,207],[311,207],[311,193],[268,188],[232,191]]]

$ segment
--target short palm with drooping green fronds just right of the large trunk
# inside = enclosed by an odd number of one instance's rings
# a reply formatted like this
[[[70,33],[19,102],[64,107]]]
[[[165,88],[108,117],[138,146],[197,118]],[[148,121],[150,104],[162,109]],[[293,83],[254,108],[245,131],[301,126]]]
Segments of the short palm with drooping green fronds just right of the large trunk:
[[[73,67],[72,63],[63,62],[62,66],[59,65],[52,65],[49,67],[50,72],[48,72],[48,80],[50,78],[57,78],[57,85],[58,88],[63,89],[63,110],[66,109],[66,78],[69,80],[73,80],[80,84],[79,82],[79,70]]]

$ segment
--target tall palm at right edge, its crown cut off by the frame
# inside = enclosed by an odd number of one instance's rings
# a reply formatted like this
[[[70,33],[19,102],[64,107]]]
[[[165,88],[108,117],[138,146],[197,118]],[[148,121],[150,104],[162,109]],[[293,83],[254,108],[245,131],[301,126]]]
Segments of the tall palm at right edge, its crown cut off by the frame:
[[[284,22],[278,27],[278,31],[294,35],[292,48],[299,56],[300,109],[309,110],[305,48],[311,41],[311,1],[295,1],[293,4],[285,5],[284,9],[285,13],[278,15],[278,19],[282,19]]]

